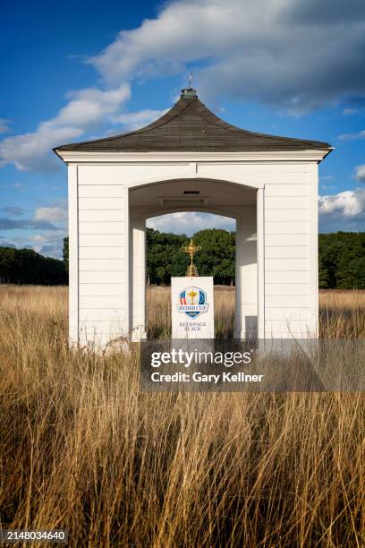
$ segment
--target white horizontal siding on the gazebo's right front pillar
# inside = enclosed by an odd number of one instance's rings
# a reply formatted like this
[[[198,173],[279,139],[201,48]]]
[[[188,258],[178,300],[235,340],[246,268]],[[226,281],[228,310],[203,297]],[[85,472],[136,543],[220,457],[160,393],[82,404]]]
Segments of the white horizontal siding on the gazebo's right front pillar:
[[[265,185],[266,337],[303,337],[313,330],[309,168],[297,168],[301,176],[287,172],[280,183]]]

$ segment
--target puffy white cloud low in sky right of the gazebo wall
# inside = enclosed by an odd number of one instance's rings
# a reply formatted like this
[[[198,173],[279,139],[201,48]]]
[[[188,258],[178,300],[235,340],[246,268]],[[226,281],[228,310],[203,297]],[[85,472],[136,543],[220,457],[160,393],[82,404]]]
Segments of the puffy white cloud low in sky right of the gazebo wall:
[[[327,196],[318,196],[319,215],[338,219],[365,218],[365,189],[356,188]]]

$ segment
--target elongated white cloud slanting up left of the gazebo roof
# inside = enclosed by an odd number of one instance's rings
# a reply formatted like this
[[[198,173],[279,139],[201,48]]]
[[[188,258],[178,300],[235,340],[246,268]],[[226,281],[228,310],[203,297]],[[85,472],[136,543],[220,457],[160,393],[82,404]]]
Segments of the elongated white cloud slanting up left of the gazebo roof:
[[[127,84],[115,90],[89,88],[72,92],[69,103],[55,117],[39,124],[37,131],[8,137],[0,142],[2,163],[13,163],[20,171],[55,169],[60,164],[51,154],[52,148],[75,141],[85,131],[105,123],[108,116],[114,116],[130,95]]]

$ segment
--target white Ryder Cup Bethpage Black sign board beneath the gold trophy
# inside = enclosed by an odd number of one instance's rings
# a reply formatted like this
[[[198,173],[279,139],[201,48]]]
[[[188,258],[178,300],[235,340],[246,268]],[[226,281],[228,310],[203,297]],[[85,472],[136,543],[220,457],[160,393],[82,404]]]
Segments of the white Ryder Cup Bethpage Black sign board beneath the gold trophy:
[[[172,338],[214,338],[213,277],[171,278]]]

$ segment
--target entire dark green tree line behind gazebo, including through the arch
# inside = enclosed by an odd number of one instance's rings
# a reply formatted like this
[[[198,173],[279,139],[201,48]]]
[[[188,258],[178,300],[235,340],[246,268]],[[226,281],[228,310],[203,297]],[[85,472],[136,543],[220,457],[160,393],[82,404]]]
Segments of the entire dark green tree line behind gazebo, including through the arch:
[[[189,256],[186,235],[147,228],[147,281],[169,285],[172,276],[184,276]],[[200,276],[213,276],[215,284],[234,284],[235,235],[221,229],[199,230],[194,243],[201,247],[194,262]],[[365,232],[337,232],[318,237],[321,289],[365,289]],[[68,238],[64,261],[43,257],[31,249],[0,247],[0,281],[21,284],[67,283]]]

